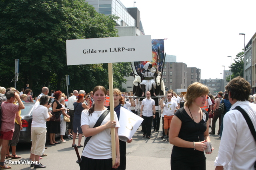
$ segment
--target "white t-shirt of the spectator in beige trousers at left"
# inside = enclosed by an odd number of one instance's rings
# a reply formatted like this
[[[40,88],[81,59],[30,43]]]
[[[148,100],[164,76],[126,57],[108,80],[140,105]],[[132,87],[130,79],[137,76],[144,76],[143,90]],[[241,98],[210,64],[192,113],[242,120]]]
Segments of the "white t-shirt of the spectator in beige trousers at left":
[[[49,118],[48,109],[36,102],[32,111],[33,120],[31,127],[46,128],[46,119]]]

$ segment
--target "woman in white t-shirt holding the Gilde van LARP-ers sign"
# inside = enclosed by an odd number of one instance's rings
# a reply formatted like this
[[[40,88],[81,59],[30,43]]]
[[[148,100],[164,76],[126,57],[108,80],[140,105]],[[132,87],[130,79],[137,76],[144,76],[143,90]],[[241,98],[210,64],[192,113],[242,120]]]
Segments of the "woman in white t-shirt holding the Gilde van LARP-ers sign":
[[[101,125],[94,127],[97,120],[107,110],[104,107],[106,89],[96,86],[92,93],[94,104],[90,109],[82,111],[81,128],[84,136],[92,136],[82,152],[81,170],[111,170],[118,168],[120,163],[119,140],[117,130],[120,127],[116,113],[114,121],[110,121],[110,113],[102,121]],[[112,166],[111,134],[110,128],[115,127],[116,134],[116,161]]]

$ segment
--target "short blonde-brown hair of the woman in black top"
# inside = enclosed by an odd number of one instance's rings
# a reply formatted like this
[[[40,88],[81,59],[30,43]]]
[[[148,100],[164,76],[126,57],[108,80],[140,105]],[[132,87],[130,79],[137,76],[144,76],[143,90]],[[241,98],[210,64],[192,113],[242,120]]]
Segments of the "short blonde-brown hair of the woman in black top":
[[[202,95],[206,95],[209,93],[209,89],[204,84],[199,82],[194,82],[190,84],[187,89],[187,93],[184,95],[186,102],[184,106],[190,106],[194,100]]]

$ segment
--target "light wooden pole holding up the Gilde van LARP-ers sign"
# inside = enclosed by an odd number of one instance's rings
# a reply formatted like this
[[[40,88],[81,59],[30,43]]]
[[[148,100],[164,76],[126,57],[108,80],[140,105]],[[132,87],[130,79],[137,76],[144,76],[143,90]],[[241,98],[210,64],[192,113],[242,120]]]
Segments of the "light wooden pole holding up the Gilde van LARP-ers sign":
[[[108,84],[109,84],[109,106],[110,106],[110,121],[114,120],[114,92],[113,92],[113,68],[112,63],[108,63]],[[116,138],[115,128],[111,128],[111,145],[112,145],[112,166],[116,162]]]

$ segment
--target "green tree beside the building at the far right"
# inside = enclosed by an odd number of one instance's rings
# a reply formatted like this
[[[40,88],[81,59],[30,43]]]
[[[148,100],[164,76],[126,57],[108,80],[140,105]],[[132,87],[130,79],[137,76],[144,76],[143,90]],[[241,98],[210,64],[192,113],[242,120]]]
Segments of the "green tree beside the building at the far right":
[[[244,49],[243,49],[244,50]],[[229,66],[230,68],[230,66]],[[231,79],[241,76],[244,77],[244,51],[239,52],[231,65]],[[226,77],[226,81],[230,81],[230,76]]]

